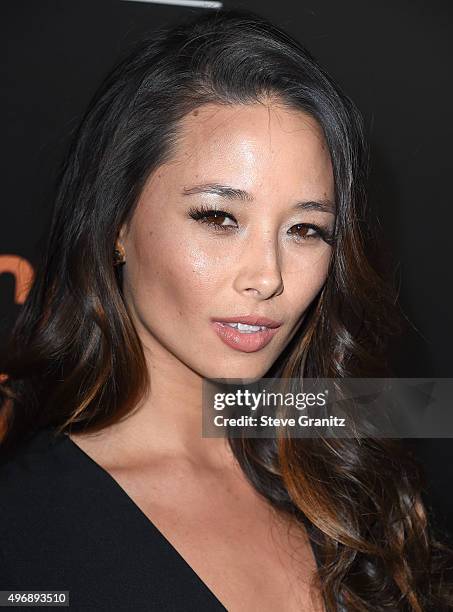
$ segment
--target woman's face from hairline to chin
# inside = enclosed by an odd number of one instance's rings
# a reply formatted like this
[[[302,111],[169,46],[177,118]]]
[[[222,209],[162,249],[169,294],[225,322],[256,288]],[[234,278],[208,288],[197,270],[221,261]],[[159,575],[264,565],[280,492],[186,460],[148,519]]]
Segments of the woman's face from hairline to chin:
[[[333,207],[329,152],[308,115],[274,103],[187,115],[120,232],[125,299],[156,363],[262,377],[326,280]],[[244,316],[264,328],[235,328]]]

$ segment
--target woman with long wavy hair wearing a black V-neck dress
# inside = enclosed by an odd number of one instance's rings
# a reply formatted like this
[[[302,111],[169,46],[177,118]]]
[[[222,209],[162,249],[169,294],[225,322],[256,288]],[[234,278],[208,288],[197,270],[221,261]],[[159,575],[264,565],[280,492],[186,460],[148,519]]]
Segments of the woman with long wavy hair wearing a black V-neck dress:
[[[256,15],[162,30],[111,72],[0,367],[1,589],[69,590],[75,609],[452,609],[397,441],[201,437],[203,379],[387,373],[397,313],[365,178],[353,103]]]

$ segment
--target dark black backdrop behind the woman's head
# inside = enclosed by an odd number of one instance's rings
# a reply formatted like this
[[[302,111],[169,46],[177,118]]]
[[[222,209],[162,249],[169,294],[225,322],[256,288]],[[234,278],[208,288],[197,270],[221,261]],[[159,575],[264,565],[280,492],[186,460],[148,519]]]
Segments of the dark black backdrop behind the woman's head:
[[[243,0],[301,40],[361,109],[371,203],[394,256],[409,326],[395,374],[452,377],[452,7],[435,0]],[[2,3],[0,256],[37,260],[71,130],[130,43],[200,9],[122,0]],[[20,304],[0,274],[0,341]],[[417,440],[428,503],[453,531],[453,439]]]

